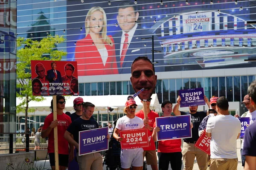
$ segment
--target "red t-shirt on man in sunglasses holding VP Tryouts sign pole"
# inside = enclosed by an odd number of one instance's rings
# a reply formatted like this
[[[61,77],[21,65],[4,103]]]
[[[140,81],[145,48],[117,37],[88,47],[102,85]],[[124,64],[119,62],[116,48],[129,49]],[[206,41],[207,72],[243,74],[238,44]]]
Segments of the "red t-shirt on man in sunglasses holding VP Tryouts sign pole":
[[[58,153],[68,155],[68,142],[64,138],[64,133],[67,130],[67,127],[71,124],[70,116],[67,116],[65,113],[62,113],[61,115],[57,114],[58,119]],[[49,125],[51,125],[53,121],[53,113],[50,113],[48,116],[46,116],[44,120],[44,126],[43,130],[47,129]],[[54,133],[53,129],[49,133],[48,136],[48,153],[54,153]]]

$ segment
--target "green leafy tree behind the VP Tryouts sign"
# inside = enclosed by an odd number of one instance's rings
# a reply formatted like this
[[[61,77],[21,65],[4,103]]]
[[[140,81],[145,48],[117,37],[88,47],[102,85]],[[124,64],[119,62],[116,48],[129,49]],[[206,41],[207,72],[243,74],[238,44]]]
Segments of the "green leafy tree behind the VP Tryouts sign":
[[[32,80],[31,80],[31,60],[61,60],[62,56],[66,56],[67,52],[58,51],[56,44],[64,42],[64,38],[58,35],[55,37],[48,36],[41,41],[17,38],[17,88],[20,92],[16,92],[16,96],[21,99],[21,103],[17,105],[17,113],[25,112],[25,130],[27,129],[27,116],[29,112],[34,112],[33,108],[29,108],[29,102],[41,102],[44,100],[42,96],[33,96]]]

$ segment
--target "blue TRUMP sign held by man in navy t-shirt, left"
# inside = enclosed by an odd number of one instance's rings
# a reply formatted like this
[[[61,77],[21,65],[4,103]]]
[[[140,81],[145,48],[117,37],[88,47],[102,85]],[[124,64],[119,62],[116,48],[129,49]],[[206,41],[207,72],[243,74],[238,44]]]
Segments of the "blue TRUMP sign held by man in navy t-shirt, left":
[[[79,156],[108,150],[108,127],[79,132]]]

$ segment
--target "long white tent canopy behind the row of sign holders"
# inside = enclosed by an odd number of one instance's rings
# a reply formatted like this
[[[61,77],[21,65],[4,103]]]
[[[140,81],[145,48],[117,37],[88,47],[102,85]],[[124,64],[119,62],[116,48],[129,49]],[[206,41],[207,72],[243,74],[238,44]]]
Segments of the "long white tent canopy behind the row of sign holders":
[[[95,105],[95,111],[100,111],[100,113],[107,113],[107,108],[111,107],[114,109],[112,113],[121,112],[123,108],[125,107],[125,102],[127,101],[127,97],[129,95],[108,95],[108,96],[66,96],[66,105],[65,105],[65,111],[70,111],[71,113],[74,112],[73,109],[73,100],[77,97],[82,97],[84,99],[84,102],[91,102]],[[35,112],[50,112],[50,105],[52,96],[46,96],[44,97],[45,100],[42,102],[29,102],[29,108],[34,108]],[[151,96],[151,104],[150,108],[153,110],[160,109],[160,104],[157,98],[157,94],[153,94]],[[140,102],[140,99],[138,97],[135,97],[136,104],[138,105],[137,111],[139,111],[142,108],[142,103]],[[21,102],[20,99],[16,99],[16,105],[19,105]],[[160,110],[158,110],[160,111]],[[20,113],[22,114],[22,113]],[[39,113],[40,114],[40,113]]]

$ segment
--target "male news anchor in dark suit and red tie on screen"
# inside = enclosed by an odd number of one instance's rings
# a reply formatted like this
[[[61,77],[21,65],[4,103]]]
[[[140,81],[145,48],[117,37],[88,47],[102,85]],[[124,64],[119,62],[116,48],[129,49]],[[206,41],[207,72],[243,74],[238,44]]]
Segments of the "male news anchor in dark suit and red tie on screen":
[[[119,74],[131,73],[131,63],[137,57],[145,56],[150,60],[152,59],[151,39],[142,39],[151,38],[152,33],[138,26],[139,12],[136,7],[131,1],[121,2],[118,7],[116,19],[122,31],[113,37],[115,37],[114,41],[117,42],[116,62]],[[144,47],[145,43],[146,47]],[[156,35],[154,35],[154,50],[160,51],[160,53],[154,54],[154,61],[158,62],[157,65],[163,65],[163,60],[158,60],[163,59],[163,49]],[[163,67],[156,67],[156,71],[163,71]]]

